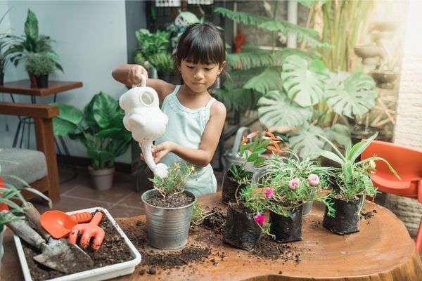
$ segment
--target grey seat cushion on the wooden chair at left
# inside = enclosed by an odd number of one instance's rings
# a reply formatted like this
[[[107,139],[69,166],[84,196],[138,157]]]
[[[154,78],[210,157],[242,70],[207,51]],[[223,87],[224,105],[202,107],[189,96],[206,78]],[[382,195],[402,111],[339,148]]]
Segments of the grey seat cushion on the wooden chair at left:
[[[27,183],[34,183],[47,175],[46,157],[43,152],[20,148],[0,148],[0,174],[22,178]],[[23,187],[23,183],[13,178],[5,178],[6,183]]]

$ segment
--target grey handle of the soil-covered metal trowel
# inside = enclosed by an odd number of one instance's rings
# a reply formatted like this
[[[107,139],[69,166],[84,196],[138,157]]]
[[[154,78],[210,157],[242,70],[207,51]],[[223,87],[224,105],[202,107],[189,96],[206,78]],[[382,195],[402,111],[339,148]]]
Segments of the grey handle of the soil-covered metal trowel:
[[[6,226],[13,230],[13,233],[22,238],[22,240],[29,243],[31,246],[36,247],[37,249],[42,249],[45,247],[45,240],[42,239],[37,231],[33,230],[25,220],[16,217],[10,211],[1,211],[0,216],[3,216],[6,218],[6,220],[13,220],[9,223],[6,223]]]

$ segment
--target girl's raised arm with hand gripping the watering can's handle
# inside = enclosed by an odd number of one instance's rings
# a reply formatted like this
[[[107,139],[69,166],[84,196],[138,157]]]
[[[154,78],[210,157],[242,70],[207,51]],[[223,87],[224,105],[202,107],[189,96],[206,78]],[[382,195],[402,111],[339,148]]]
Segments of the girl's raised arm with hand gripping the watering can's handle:
[[[166,81],[162,81],[160,79],[148,79],[148,72],[141,65],[120,65],[111,72],[111,75],[116,81],[119,81],[128,87],[141,84],[141,75],[146,75],[146,86],[157,91],[160,103],[162,103],[165,96],[174,90],[174,85],[167,83]]]

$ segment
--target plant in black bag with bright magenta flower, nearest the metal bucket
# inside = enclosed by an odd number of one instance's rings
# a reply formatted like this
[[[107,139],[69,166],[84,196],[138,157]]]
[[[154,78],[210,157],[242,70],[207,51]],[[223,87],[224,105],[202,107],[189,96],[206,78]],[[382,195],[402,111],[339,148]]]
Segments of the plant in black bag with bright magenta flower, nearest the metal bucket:
[[[268,233],[262,192],[257,183],[248,183],[240,191],[236,203],[229,203],[224,224],[223,241],[240,249],[250,250]]]

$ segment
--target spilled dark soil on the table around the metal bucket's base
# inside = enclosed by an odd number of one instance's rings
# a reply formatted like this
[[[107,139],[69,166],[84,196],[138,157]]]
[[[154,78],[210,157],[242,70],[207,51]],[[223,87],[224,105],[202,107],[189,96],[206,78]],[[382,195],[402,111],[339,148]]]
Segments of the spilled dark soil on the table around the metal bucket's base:
[[[204,263],[212,254],[210,247],[191,245],[180,250],[160,250],[148,245],[146,224],[137,221],[136,226],[120,223],[120,227],[134,243],[136,249],[141,253],[142,260],[139,266],[144,267],[139,271],[143,274],[156,274],[160,269],[180,268],[193,262]]]

